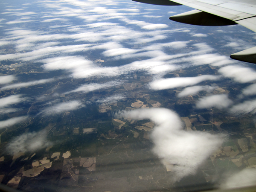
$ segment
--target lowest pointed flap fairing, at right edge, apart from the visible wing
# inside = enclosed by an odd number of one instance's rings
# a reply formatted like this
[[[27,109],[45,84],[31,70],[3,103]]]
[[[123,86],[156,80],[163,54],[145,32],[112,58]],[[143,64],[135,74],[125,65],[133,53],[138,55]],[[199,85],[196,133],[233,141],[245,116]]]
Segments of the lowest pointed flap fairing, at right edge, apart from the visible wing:
[[[230,55],[230,58],[256,64],[256,47],[236,52]]]

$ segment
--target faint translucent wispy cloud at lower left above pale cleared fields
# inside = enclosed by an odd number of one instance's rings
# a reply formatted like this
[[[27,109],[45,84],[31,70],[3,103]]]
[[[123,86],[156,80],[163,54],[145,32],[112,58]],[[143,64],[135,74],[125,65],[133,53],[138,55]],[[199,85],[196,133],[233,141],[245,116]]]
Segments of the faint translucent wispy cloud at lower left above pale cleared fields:
[[[47,142],[45,131],[25,133],[12,138],[6,147],[6,151],[11,154],[18,152],[37,151],[45,148],[51,143]]]

